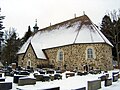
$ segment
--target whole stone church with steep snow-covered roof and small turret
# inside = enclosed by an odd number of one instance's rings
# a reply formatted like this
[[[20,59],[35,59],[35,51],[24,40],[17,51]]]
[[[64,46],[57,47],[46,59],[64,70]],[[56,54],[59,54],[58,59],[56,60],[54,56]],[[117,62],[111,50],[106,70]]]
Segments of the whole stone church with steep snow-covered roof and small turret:
[[[113,45],[87,15],[39,29],[21,47],[18,64],[61,70],[111,70]]]

